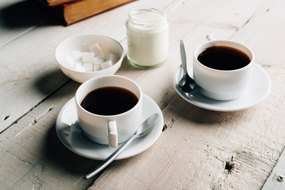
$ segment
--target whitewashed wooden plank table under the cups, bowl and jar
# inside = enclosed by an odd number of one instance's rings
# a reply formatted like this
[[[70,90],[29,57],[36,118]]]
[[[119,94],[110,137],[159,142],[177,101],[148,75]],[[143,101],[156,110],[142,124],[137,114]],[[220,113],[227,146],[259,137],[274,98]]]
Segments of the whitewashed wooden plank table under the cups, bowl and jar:
[[[127,12],[142,4],[165,8],[169,58],[149,70],[124,59],[116,74],[135,80],[157,102],[167,129],[146,151],[85,181],[101,161],[71,152],[56,134],[59,110],[80,84],[60,71],[54,51],[82,33],[110,36],[127,51]],[[284,0],[136,1],[69,27],[34,7],[32,1],[0,2],[0,189],[285,188]],[[191,57],[207,34],[253,50],[271,78],[267,99],[246,110],[217,112],[177,95],[172,75],[181,64],[179,41]]]

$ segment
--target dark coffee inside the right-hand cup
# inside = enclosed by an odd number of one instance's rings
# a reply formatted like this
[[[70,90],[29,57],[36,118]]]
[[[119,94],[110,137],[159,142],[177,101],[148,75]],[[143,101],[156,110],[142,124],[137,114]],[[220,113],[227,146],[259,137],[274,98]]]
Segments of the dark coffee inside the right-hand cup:
[[[227,46],[209,47],[197,59],[207,67],[224,71],[243,68],[250,62],[249,56],[244,52]]]

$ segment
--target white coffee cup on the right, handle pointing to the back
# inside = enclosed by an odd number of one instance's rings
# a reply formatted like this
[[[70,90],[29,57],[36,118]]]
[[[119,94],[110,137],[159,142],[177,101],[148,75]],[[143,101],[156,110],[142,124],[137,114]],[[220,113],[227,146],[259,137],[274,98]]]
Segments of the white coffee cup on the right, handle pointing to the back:
[[[246,91],[251,80],[254,54],[245,45],[231,40],[215,40],[212,35],[207,35],[206,43],[196,47],[193,58],[193,78],[198,84],[201,94],[217,100],[231,100],[240,97]],[[213,46],[228,46],[241,50],[250,58],[250,63],[236,70],[211,69],[201,64],[197,57],[203,50]]]

